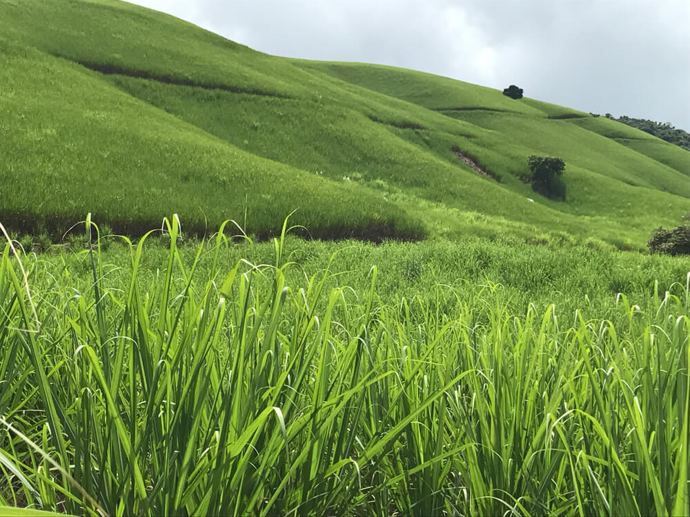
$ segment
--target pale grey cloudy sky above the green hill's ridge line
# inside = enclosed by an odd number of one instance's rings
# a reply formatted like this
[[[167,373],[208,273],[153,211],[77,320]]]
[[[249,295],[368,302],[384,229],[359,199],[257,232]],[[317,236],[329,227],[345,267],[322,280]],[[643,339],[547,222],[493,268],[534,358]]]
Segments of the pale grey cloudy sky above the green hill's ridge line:
[[[269,54],[424,70],[690,131],[690,0],[135,0]]]

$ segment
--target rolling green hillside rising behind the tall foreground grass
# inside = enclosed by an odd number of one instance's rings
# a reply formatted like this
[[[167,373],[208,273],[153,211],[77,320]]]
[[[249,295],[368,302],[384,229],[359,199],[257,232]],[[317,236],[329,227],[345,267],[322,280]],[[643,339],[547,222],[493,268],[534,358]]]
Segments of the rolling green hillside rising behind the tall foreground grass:
[[[272,57],[120,1],[0,0],[0,221],[137,234],[284,216],[319,238],[566,232],[640,249],[690,205],[690,153],[431,74]],[[529,92],[528,92],[529,93]],[[521,177],[566,163],[565,202]],[[484,172],[467,165],[469,156]]]

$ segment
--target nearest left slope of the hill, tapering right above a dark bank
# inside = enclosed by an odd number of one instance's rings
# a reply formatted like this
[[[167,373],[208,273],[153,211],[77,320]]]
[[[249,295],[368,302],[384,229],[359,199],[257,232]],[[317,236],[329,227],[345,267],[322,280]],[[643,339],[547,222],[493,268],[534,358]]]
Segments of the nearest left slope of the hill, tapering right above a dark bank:
[[[415,230],[395,207],[357,185],[343,188],[238,150],[75,65],[29,51],[4,60],[3,73],[11,83],[31,85],[3,103],[12,130],[3,139],[3,163],[10,163],[3,189],[11,195],[3,195],[2,209],[12,227],[35,220],[66,227],[93,212],[121,231],[140,233],[174,210],[190,227],[204,227],[207,217],[215,230],[223,219],[242,221],[248,210],[247,230],[265,234],[279,230],[291,200],[311,198],[322,208],[300,214],[299,222],[315,236]],[[36,182],[26,181],[32,176]],[[362,196],[364,207],[339,209]]]

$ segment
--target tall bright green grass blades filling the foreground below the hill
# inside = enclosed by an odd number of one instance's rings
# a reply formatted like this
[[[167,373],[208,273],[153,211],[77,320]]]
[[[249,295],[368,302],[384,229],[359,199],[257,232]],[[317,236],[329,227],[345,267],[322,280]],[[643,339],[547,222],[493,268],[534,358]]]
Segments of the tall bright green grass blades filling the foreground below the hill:
[[[26,257],[28,292],[6,247],[0,504],[94,515],[687,514],[684,276],[665,294],[658,284],[636,300],[610,293],[615,317],[602,321],[586,306],[515,311],[488,278],[381,298],[380,286],[405,287],[371,267],[364,245],[351,247],[357,275],[334,277],[338,254],[332,273],[289,263],[315,266],[326,244],[280,239],[270,265],[254,265],[266,245],[219,238],[194,252],[170,230],[163,261],[142,241],[121,270],[106,260],[121,254],[112,247],[78,261]],[[382,249],[412,259],[411,283],[426,274],[411,252],[433,244]],[[484,248],[486,270],[498,249]],[[250,261],[228,260],[237,250]]]

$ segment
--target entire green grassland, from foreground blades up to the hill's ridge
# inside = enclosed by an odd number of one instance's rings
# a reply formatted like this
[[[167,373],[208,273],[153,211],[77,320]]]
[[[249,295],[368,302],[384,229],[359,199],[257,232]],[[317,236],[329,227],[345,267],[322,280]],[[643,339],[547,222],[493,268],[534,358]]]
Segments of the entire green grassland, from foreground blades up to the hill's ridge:
[[[0,83],[0,514],[690,514],[690,152],[117,0]]]

